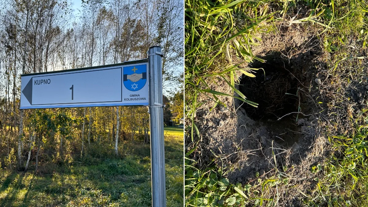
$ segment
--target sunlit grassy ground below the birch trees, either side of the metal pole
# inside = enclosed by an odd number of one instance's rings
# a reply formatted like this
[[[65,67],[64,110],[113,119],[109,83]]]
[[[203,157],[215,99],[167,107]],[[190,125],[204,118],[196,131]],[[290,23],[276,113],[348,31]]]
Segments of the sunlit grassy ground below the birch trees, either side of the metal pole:
[[[165,128],[164,134],[167,206],[181,207],[183,129]],[[98,150],[91,146],[95,153],[81,162],[50,164],[50,174],[1,169],[0,206],[151,206],[149,144],[121,144],[122,158],[106,157]]]

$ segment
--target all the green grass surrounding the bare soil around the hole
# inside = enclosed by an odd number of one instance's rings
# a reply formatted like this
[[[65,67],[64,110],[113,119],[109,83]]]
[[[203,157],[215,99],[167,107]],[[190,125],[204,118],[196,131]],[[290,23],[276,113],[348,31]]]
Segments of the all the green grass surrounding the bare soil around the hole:
[[[358,103],[352,102],[351,95],[358,94],[355,89],[359,87],[368,89],[367,81],[363,80],[368,71],[367,1],[186,0],[185,5],[186,206],[284,206],[279,199],[290,189],[296,189],[297,193],[290,196],[293,198],[289,206],[368,206],[368,107],[360,104],[354,108]],[[205,139],[201,130],[208,125],[198,124],[198,111],[211,111],[219,105],[231,110],[233,106],[223,103],[224,98],[220,97],[239,99],[256,107],[237,89],[240,76],[254,77],[257,68],[242,65],[263,61],[252,53],[253,47],[263,44],[263,35],[283,35],[296,24],[313,33],[319,42],[317,46],[326,56],[329,74],[326,90],[333,93],[332,101],[325,105],[316,101],[321,114],[332,111],[324,117],[333,129],[329,126],[323,129],[320,135],[326,137],[322,144],[326,148],[322,150],[324,157],[306,172],[312,177],[313,187],[305,188],[303,181],[290,184],[296,179],[289,174],[294,165],[281,171],[274,168],[267,176],[255,174],[252,184],[230,183],[223,173],[229,166],[214,164],[216,158],[222,159],[225,154],[215,154],[213,149],[207,160],[198,158],[208,144],[201,143]],[[356,87],[350,86],[352,82]],[[332,87],[333,84],[338,86]],[[232,93],[217,91],[213,89],[215,86],[227,87]],[[367,100],[364,91],[362,94],[358,95],[362,97],[361,103]],[[207,103],[213,105],[201,108]],[[343,128],[340,121],[343,115],[333,112],[338,108],[346,109],[348,117],[346,125],[350,128],[344,134],[337,133]]]

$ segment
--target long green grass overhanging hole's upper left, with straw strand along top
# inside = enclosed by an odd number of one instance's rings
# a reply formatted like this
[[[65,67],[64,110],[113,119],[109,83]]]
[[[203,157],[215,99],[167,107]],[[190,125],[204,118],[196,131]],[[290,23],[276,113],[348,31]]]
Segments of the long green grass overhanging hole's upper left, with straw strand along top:
[[[276,11],[272,12],[269,4]],[[257,107],[257,103],[237,90],[236,84],[240,75],[255,77],[252,72],[258,70],[242,68],[244,63],[264,62],[251,49],[262,40],[259,34],[275,32],[275,22],[313,22],[330,28],[320,21],[325,11],[320,7],[312,7],[308,17],[286,20],[290,10],[295,9],[294,1],[186,0],[185,5],[185,97],[190,100],[186,103],[186,118],[191,120],[192,141],[194,131],[199,135],[194,117],[203,103],[197,102],[198,96],[205,95],[215,101],[213,107],[217,104],[227,107],[218,96],[230,96]],[[217,82],[226,83],[237,96],[211,89],[210,85]]]

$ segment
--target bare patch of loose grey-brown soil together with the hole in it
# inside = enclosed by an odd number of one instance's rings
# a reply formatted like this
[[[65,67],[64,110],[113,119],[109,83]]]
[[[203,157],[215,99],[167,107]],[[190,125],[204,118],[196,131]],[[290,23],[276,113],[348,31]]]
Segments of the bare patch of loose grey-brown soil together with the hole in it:
[[[227,107],[210,110],[213,101],[200,97],[206,100],[195,116],[200,150],[190,158],[201,167],[214,160],[231,183],[243,185],[270,178],[277,169],[293,177],[289,186],[298,185],[298,190],[279,189],[279,202],[298,206],[299,190],[315,188],[311,167],[329,154],[327,136],[354,130],[350,120],[367,106],[368,78],[354,69],[339,75],[328,72],[330,54],[322,52],[319,40],[301,26],[281,26],[279,33],[261,38],[261,46],[253,51],[266,63],[244,65],[263,69],[256,78],[243,76],[237,86],[258,108],[220,97]],[[223,82],[211,89],[232,93]],[[191,148],[187,144],[187,150]]]

